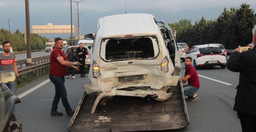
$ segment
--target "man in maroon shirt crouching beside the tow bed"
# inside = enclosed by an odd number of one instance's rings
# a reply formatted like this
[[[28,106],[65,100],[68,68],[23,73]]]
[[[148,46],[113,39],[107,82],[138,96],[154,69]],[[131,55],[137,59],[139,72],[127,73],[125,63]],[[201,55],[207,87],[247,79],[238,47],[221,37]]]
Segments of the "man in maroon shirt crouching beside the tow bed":
[[[186,98],[186,101],[195,101],[197,99],[197,94],[195,94],[199,87],[199,78],[197,75],[197,71],[195,70],[194,67],[192,67],[192,58],[191,57],[186,57],[185,59],[185,76],[184,78],[181,78],[182,83],[186,83],[188,81],[188,85],[183,85],[183,91],[184,95],[188,96]]]

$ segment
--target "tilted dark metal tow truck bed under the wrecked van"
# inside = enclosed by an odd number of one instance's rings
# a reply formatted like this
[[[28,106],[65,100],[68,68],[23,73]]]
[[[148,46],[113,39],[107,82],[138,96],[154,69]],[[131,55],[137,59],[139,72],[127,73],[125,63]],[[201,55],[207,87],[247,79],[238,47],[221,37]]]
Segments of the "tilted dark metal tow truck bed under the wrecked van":
[[[189,124],[187,106],[180,83],[172,88],[166,101],[115,96],[105,106],[98,105],[94,114],[92,94],[80,100],[69,123],[70,132],[131,132],[181,129]]]

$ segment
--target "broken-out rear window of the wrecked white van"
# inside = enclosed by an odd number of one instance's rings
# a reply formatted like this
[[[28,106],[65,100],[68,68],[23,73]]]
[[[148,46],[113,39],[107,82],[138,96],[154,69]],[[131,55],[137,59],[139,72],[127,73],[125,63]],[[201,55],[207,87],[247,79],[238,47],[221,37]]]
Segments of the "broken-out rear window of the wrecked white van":
[[[102,49],[105,49],[105,53]],[[152,59],[159,52],[154,49],[159,48],[152,37],[106,39],[101,43],[101,56],[105,60]]]

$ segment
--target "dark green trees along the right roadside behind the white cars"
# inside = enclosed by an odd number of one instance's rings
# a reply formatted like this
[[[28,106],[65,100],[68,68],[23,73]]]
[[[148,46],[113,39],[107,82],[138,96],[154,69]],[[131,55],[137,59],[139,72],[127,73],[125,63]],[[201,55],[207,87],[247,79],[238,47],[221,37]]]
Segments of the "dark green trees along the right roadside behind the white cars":
[[[240,8],[230,8],[215,20],[196,21],[182,19],[176,23],[168,23],[176,30],[176,41],[185,42],[191,48],[200,44],[222,44],[226,49],[235,49],[252,43],[252,28],[256,24],[256,14],[251,5],[241,4]]]

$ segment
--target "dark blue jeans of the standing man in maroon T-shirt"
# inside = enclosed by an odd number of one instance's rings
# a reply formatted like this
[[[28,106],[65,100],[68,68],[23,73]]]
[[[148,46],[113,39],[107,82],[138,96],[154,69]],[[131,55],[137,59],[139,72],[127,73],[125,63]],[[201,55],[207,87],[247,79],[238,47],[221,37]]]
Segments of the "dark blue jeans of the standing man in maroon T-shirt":
[[[56,111],[58,109],[59,100],[61,98],[62,104],[67,112],[70,108],[69,101],[67,101],[67,91],[65,88],[65,78],[64,76],[53,76],[49,74],[51,82],[55,86],[55,96],[53,98],[53,104],[51,106],[51,111]]]

